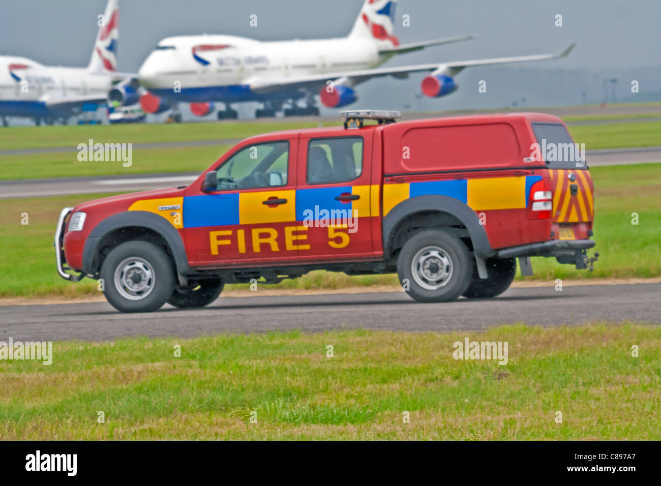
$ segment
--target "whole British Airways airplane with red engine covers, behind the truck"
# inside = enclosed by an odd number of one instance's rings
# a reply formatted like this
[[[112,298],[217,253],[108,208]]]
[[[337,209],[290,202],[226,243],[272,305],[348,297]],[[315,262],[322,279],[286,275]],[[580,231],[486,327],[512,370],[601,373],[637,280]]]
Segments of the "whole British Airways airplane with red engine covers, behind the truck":
[[[231,104],[257,101],[264,108],[255,116],[275,116],[285,104],[284,116],[319,114],[315,95],[329,108],[358,99],[355,87],[373,77],[407,78],[428,72],[422,93],[442,97],[457,90],[455,75],[465,67],[541,61],[567,56],[575,44],[558,54],[517,56],[473,61],[436,62],[405,67],[379,67],[399,54],[428,46],[468,40],[457,36],[400,44],[394,35],[397,0],[365,0],[348,36],[316,40],[260,42],[229,35],[176,36],[158,42],[138,71],[143,89],[140,103],[148,113],[173,110],[180,121],[178,102],[189,102],[197,116],[223,102],[217,118],[237,118]],[[299,102],[304,101],[304,106]]]

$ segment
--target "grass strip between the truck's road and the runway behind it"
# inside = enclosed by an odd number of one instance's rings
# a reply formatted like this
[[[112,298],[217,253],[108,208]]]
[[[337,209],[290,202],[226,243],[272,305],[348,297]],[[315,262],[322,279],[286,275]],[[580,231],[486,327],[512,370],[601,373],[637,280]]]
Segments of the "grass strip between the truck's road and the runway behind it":
[[[661,276],[661,169],[658,164],[595,167],[594,239],[600,259],[594,272],[576,270],[555,259],[532,259],[536,280],[556,278],[646,278]],[[52,247],[59,211],[108,194],[0,200],[0,296],[77,296],[97,293],[97,282],[72,284],[59,278]],[[21,225],[27,212],[29,225]],[[632,225],[631,214],[639,214]],[[522,279],[522,276],[518,276]],[[527,277],[526,280],[529,280]],[[397,276],[348,276],[317,271],[274,288],[336,289],[351,286],[393,285]],[[247,288],[240,284],[228,286]]]

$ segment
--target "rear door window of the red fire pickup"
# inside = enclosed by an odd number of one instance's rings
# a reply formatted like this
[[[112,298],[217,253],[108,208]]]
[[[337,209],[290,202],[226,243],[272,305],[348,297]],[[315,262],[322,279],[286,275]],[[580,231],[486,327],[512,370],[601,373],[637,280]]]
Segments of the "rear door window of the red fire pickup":
[[[358,179],[363,171],[363,138],[316,138],[307,149],[307,183],[335,184]]]

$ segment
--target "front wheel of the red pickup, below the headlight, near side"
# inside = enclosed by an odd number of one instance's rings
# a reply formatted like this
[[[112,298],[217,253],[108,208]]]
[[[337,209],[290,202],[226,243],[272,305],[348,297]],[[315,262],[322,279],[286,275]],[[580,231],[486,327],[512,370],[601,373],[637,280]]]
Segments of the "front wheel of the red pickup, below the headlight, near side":
[[[175,289],[175,268],[165,251],[147,241],[127,241],[101,265],[106,300],[118,311],[160,309]]]

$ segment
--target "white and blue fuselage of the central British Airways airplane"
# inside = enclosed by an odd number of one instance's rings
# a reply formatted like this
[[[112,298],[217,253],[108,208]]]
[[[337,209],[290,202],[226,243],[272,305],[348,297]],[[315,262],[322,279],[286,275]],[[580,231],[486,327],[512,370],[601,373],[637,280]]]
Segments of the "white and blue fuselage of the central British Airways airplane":
[[[368,38],[260,42],[225,35],[178,36],[159,42],[138,79],[169,101],[288,99],[297,89],[253,93],[249,85],[259,79],[370,69],[389,57],[379,55],[377,44]]]

